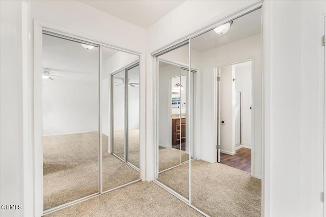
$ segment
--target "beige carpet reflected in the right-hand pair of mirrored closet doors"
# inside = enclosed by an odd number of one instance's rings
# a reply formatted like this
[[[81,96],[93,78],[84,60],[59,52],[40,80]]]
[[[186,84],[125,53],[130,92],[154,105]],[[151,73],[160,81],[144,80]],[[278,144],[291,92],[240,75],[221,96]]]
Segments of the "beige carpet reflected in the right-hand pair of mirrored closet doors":
[[[188,198],[188,164],[158,180]],[[192,204],[210,216],[261,216],[261,180],[220,163],[192,162]]]

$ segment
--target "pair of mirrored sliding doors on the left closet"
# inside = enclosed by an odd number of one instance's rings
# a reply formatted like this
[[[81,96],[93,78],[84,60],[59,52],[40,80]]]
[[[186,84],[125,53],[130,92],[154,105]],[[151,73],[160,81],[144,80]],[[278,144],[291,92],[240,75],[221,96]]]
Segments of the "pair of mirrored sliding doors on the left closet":
[[[42,41],[45,214],[140,180],[140,67],[131,51],[49,31]]]

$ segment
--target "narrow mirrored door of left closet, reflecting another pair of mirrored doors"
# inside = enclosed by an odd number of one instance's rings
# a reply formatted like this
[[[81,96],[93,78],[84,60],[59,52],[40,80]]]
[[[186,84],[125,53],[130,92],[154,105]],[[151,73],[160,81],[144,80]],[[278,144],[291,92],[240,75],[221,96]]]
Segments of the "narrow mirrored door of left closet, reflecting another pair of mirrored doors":
[[[101,50],[102,190],[107,192],[140,177],[139,56]]]

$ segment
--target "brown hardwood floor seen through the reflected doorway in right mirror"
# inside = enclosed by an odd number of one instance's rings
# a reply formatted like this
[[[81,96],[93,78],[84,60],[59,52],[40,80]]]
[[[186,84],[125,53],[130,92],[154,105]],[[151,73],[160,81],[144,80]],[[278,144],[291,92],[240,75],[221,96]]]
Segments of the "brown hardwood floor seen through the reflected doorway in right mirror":
[[[240,148],[236,154],[221,153],[221,164],[228,165],[246,172],[251,172],[251,149]]]

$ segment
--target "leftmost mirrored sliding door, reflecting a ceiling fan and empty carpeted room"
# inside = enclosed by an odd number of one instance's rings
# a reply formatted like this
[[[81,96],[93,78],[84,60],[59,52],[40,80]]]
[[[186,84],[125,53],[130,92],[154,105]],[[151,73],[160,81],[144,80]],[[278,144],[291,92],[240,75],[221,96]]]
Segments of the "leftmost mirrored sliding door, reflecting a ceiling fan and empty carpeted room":
[[[44,210],[99,192],[98,47],[43,34]]]

